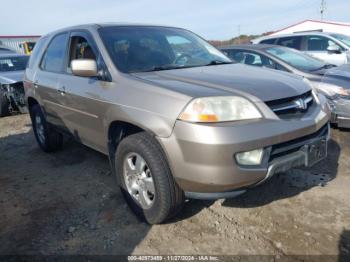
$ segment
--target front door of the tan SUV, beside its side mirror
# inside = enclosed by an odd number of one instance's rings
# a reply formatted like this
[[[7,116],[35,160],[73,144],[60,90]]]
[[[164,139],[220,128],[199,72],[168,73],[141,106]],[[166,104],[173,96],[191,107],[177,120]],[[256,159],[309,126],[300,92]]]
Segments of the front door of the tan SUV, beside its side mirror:
[[[74,59],[93,59],[101,77],[75,76],[71,71]],[[62,97],[64,121],[69,131],[82,143],[101,152],[106,151],[103,118],[108,108],[104,100],[111,90],[111,80],[95,41],[88,31],[73,31],[69,38],[69,52],[65,75],[60,82],[65,93]]]

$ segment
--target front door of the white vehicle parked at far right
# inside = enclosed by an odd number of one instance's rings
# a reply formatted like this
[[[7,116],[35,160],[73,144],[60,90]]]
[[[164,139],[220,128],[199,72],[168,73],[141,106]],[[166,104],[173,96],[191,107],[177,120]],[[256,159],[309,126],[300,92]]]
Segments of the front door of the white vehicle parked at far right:
[[[330,46],[338,46],[342,51],[329,52],[328,47]],[[332,39],[325,36],[305,36],[305,53],[334,65],[342,65],[347,61],[345,50]]]

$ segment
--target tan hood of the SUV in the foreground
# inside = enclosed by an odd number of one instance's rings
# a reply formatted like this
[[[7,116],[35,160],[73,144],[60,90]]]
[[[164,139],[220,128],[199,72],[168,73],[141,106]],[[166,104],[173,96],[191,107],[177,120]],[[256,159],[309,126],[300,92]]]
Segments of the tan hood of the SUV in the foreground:
[[[302,77],[242,64],[135,73],[134,76],[191,97],[243,95],[271,101],[310,90]]]

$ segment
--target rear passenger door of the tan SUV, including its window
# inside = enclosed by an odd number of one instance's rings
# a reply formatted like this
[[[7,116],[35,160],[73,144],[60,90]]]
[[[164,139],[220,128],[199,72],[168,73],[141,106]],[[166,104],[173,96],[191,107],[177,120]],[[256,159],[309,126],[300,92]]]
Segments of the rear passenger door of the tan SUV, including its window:
[[[59,82],[67,50],[68,32],[55,35],[48,44],[33,78],[35,93],[43,103],[47,121],[65,128]]]

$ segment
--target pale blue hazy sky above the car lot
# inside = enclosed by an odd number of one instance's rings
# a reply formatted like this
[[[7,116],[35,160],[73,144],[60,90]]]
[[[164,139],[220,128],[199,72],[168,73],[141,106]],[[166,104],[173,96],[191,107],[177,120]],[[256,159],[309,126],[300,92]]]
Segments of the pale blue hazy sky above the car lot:
[[[226,40],[319,20],[320,5],[321,0],[2,0],[0,35],[132,22],[183,27],[208,40]],[[326,0],[324,20],[350,22],[349,10],[350,0]]]

